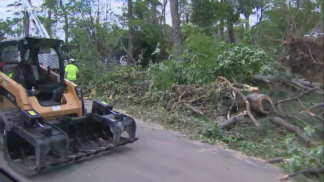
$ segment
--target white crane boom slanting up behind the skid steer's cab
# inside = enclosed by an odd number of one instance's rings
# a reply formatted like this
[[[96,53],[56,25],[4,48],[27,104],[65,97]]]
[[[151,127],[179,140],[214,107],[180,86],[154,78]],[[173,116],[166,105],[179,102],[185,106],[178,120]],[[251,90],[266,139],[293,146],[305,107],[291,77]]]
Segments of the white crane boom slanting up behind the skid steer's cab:
[[[33,10],[32,6],[30,6],[28,0],[22,0],[22,3],[26,7],[26,10],[29,14],[31,21],[33,22],[33,24],[36,28],[37,33],[43,38],[50,39],[51,38],[50,35],[47,33],[45,27],[41,24],[41,21],[38,19],[35,11]]]

